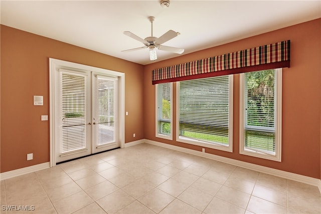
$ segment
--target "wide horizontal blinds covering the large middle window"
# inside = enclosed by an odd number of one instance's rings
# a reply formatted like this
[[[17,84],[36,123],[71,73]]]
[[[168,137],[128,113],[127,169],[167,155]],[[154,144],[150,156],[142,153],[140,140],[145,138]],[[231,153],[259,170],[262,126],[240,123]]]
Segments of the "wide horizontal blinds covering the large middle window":
[[[229,76],[180,82],[180,136],[228,144]]]

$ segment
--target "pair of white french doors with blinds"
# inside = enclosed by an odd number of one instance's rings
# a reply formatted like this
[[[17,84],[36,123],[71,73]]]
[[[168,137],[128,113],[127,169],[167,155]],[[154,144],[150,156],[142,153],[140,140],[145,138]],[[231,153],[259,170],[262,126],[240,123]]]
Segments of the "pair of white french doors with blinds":
[[[56,162],[119,147],[118,77],[86,70],[55,72]]]

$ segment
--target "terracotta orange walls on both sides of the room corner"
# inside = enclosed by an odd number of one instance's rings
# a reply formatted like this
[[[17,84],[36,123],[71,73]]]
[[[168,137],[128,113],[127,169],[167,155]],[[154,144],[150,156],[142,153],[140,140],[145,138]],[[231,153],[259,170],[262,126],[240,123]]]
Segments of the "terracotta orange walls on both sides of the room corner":
[[[125,111],[129,113],[125,116],[125,142],[146,138],[201,150],[199,146],[155,137],[151,70],[291,40],[291,67],[283,69],[282,162],[239,154],[238,75],[234,77],[233,153],[215,149],[207,152],[320,178],[319,26],[321,19],[142,66],[1,25],[1,172],[49,161],[49,121],[40,121],[41,115],[49,115],[49,58],[125,73]],[[33,106],[34,95],[44,96],[44,106]],[[34,159],[27,161],[26,154],[31,152]]]

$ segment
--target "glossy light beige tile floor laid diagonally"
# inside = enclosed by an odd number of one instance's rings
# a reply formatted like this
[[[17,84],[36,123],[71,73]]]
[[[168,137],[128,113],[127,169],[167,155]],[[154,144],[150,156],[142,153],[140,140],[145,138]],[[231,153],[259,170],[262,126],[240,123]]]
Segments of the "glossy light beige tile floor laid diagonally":
[[[145,143],[1,181],[1,213],[321,213],[320,203],[316,186]]]

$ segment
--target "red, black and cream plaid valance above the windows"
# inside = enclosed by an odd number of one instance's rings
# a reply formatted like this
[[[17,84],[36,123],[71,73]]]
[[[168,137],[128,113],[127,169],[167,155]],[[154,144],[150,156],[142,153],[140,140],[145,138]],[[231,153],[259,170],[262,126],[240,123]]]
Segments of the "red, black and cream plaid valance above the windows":
[[[152,70],[152,84],[290,66],[290,40]]]

